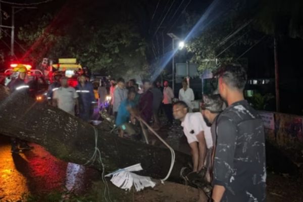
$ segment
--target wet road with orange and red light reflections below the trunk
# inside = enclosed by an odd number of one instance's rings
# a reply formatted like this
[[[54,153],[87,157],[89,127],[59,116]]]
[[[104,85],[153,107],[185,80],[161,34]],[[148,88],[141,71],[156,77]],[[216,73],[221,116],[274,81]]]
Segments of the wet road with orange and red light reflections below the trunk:
[[[11,154],[10,139],[0,135],[0,201],[20,199],[23,194],[43,194],[53,190],[85,191],[98,172],[56,159],[43,147],[24,154]]]

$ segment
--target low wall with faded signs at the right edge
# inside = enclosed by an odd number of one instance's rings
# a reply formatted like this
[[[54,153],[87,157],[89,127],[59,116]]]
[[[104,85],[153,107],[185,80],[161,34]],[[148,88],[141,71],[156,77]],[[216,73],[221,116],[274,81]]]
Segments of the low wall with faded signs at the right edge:
[[[267,139],[283,148],[303,149],[303,117],[260,111]]]

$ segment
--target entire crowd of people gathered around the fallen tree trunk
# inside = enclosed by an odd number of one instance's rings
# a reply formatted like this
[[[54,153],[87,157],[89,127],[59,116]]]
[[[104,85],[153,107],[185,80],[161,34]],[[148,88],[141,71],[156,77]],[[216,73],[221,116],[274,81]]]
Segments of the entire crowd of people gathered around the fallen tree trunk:
[[[19,78],[9,84],[12,92],[25,86],[24,69],[18,71]],[[96,96],[87,77],[80,75],[75,88],[68,85],[68,78],[60,74],[54,77],[48,89],[48,102],[89,121]],[[155,130],[160,129],[161,111],[166,114],[168,127],[173,126],[174,119],[180,120],[191,149],[192,171],[206,169],[205,180],[213,185],[211,198],[199,191],[199,201],[265,201],[264,127],[257,111],[244,99],[246,80],[242,67],[224,66],[218,75],[218,93],[203,95],[201,110],[192,112],[194,93],[186,80],[176,100],[168,81],[162,87],[160,82],[143,80],[139,87],[135,79],[128,82],[123,78],[112,79],[109,92],[104,83],[98,87],[98,106],[103,105],[109,93],[109,113],[115,117],[118,135],[144,140],[143,134],[146,142],[146,124],[154,122]],[[18,143],[28,146],[13,139],[12,152],[18,152]]]

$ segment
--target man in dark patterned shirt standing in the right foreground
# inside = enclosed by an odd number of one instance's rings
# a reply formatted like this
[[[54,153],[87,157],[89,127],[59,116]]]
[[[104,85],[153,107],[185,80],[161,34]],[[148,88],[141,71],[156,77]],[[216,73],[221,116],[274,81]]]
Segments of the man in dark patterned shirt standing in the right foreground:
[[[247,75],[241,66],[219,72],[219,92],[228,107],[217,118],[212,198],[216,202],[265,201],[263,121],[244,99]]]

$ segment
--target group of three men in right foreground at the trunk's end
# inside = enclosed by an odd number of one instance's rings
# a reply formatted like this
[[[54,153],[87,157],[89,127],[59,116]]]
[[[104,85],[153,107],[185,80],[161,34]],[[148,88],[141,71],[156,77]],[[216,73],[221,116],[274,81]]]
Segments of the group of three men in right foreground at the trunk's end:
[[[264,126],[244,99],[246,79],[242,67],[225,66],[218,75],[219,94],[204,95],[201,112],[189,113],[182,101],[173,107],[191,148],[193,172],[207,169],[211,201],[266,200]],[[199,201],[208,201],[202,191]]]

